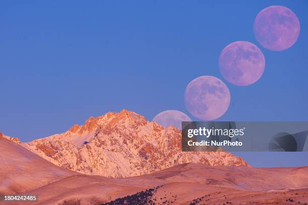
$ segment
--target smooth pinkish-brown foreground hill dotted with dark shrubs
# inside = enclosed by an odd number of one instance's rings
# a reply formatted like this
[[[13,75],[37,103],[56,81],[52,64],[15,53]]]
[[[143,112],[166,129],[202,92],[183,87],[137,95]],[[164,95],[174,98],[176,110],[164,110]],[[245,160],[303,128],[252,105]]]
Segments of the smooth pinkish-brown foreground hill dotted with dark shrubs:
[[[308,167],[190,163],[128,178],[71,176],[26,192],[37,194],[39,201],[20,204],[304,204],[307,176]]]

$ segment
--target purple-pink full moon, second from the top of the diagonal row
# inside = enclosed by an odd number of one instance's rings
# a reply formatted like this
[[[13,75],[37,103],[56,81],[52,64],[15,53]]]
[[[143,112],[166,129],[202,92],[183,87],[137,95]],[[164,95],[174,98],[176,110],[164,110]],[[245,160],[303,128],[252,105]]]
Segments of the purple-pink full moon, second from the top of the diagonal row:
[[[248,41],[227,45],[219,56],[220,73],[225,80],[237,86],[257,82],[264,73],[265,58],[262,51]]]

